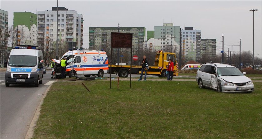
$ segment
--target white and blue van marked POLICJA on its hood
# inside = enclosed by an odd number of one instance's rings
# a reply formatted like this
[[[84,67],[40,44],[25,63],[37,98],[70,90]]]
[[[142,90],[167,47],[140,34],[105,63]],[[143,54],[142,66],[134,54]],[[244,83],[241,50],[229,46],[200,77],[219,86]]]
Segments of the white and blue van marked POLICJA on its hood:
[[[11,50],[6,67],[5,85],[43,83],[43,53],[37,46],[15,46]]]

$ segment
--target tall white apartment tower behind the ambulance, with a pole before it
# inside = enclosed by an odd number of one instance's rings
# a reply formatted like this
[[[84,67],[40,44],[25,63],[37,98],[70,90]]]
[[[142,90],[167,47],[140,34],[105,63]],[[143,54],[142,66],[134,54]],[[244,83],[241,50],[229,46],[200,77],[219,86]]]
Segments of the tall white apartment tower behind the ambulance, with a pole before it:
[[[57,7],[52,11],[37,11],[38,45],[53,46],[56,43]],[[83,15],[65,7],[58,7],[58,43],[76,42],[77,49],[83,49]]]

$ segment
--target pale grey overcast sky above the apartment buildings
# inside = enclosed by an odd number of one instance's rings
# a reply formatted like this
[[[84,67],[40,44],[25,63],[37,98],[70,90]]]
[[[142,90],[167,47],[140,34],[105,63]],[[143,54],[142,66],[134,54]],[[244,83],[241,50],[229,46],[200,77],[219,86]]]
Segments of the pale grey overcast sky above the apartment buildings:
[[[52,10],[56,0],[0,0],[0,9],[9,12],[9,26],[13,12]],[[174,26],[202,30],[201,38],[217,39],[224,45],[239,45],[241,51],[252,52],[253,12],[255,12],[255,55],[262,56],[262,1],[87,1],[59,0],[59,7],[66,7],[83,14],[84,48],[88,46],[89,27],[145,27],[173,23]],[[217,46],[222,46],[218,42]],[[222,48],[222,47],[217,47]],[[239,51],[239,46],[225,47],[224,51]],[[218,51],[218,50],[217,50]]]

